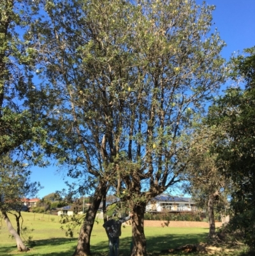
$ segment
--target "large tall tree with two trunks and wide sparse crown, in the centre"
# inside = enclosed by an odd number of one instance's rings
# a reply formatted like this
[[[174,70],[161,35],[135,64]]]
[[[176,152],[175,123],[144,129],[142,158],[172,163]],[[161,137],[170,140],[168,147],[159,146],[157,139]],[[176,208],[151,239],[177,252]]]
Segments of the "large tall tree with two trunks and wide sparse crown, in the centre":
[[[134,213],[132,255],[145,253],[146,202],[180,181],[196,118],[224,80],[224,42],[207,36],[213,10],[192,0],[47,1],[47,19],[31,26],[55,93],[46,147],[95,188],[74,255],[90,254],[109,186]]]

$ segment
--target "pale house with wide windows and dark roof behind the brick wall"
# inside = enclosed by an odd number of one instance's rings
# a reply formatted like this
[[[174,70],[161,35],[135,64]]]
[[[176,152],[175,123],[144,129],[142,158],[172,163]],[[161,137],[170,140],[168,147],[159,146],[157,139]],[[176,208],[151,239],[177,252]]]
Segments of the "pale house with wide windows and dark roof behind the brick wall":
[[[196,211],[195,202],[189,197],[177,197],[172,195],[159,195],[151,199],[146,211],[158,212],[177,212],[177,211]]]

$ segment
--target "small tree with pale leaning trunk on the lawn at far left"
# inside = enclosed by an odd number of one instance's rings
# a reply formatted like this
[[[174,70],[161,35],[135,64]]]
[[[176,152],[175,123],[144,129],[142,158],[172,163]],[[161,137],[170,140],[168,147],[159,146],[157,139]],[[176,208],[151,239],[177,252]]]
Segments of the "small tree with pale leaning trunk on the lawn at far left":
[[[13,162],[8,155],[1,156],[0,159],[1,215],[4,222],[6,222],[11,236],[14,237],[17,243],[18,250],[26,252],[29,249],[20,238],[22,234],[22,223],[20,223],[20,218],[22,219],[21,211],[24,206],[24,199],[36,195],[41,186],[40,183],[31,183],[29,181],[30,171],[27,170],[24,163]],[[11,225],[8,214],[15,216],[17,230]]]

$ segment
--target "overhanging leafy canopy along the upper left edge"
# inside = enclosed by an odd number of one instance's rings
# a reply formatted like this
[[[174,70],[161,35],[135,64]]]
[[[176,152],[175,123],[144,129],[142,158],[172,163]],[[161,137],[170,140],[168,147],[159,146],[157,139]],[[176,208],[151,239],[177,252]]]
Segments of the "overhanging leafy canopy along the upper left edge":
[[[22,38],[32,19],[31,3],[0,3],[0,155],[18,147],[25,152],[33,146],[25,147],[28,142],[43,139],[38,136],[40,116],[32,114],[25,100],[34,87],[33,46]]]

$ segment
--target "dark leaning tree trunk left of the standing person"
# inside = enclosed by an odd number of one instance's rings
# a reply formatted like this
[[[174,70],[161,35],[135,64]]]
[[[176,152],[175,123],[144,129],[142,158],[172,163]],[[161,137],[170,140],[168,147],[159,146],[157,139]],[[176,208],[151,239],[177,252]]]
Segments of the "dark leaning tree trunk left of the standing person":
[[[80,229],[78,237],[78,244],[73,253],[73,256],[87,256],[91,255],[91,232],[96,218],[96,213],[100,206],[103,195],[106,193],[106,183],[100,182],[94,193],[94,197],[91,202],[91,206],[86,213],[84,223]]]

